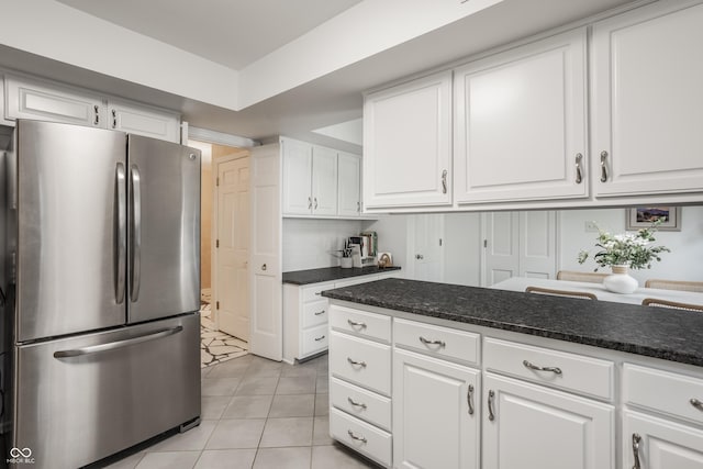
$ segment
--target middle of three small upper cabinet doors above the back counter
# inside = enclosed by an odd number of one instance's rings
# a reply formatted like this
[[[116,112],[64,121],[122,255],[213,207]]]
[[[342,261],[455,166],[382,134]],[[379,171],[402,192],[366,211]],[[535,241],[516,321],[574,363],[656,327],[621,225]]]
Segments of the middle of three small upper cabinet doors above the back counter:
[[[337,214],[337,152],[320,146],[312,149],[312,213]]]

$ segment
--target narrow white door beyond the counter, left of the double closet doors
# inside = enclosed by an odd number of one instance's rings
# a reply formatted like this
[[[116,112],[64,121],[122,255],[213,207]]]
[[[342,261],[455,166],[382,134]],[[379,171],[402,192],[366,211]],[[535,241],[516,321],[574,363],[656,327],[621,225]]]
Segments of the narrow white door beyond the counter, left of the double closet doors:
[[[444,279],[444,215],[419,214],[408,222],[410,261],[415,280],[443,281]]]

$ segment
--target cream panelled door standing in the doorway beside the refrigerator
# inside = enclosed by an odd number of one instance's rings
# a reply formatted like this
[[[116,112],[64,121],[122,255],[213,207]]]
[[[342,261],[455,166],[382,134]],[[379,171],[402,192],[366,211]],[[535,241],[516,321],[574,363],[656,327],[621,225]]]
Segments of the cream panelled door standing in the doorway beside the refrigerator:
[[[217,164],[217,327],[249,340],[249,158]]]

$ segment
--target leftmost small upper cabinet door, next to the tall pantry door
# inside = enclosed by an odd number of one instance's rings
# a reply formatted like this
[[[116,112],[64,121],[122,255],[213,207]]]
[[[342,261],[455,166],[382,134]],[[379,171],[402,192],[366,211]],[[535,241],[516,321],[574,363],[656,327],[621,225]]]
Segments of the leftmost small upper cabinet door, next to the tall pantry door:
[[[312,213],[312,145],[281,138],[283,155],[283,214]]]

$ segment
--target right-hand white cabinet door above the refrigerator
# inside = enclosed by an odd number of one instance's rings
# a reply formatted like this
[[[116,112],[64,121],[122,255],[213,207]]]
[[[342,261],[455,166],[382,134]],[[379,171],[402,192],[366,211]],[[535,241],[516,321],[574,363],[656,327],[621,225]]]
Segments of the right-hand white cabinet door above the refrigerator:
[[[111,100],[108,102],[108,127],[180,143],[180,116],[178,114],[126,101]]]

